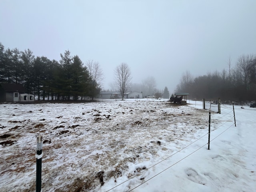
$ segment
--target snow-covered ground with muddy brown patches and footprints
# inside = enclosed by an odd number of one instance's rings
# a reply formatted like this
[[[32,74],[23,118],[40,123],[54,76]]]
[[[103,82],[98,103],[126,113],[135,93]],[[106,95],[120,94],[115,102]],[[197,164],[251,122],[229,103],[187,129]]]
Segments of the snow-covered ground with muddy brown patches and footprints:
[[[161,102],[162,101],[162,102]],[[0,191],[35,191],[43,136],[42,192],[256,191],[256,109],[201,102],[100,100],[0,104]],[[218,137],[217,137],[218,136]]]

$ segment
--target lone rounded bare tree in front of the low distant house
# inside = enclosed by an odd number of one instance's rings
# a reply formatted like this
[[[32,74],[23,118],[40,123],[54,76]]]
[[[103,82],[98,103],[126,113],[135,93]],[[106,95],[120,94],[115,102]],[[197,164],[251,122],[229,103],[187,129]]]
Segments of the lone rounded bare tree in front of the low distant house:
[[[128,92],[132,80],[129,66],[126,63],[121,63],[116,67],[114,77],[116,81],[116,88],[120,91],[122,100],[124,100],[124,94]]]

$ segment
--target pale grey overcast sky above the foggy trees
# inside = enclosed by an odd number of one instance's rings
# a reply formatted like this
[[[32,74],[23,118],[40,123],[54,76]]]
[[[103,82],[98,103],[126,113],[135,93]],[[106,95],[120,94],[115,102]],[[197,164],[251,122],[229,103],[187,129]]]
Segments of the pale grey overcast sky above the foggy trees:
[[[256,0],[1,0],[0,42],[60,60],[98,61],[104,88],[126,62],[132,82],[174,92],[182,74],[228,69],[256,54]]]

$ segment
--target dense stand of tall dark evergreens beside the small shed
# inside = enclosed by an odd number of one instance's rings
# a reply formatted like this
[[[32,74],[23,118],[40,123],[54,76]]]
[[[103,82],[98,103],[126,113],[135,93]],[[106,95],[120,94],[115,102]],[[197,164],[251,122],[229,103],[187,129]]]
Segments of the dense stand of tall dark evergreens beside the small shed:
[[[101,82],[97,80],[102,74],[98,63],[89,62],[88,68],[69,51],[60,56],[59,62],[46,56],[35,58],[30,49],[5,50],[0,42],[0,83],[22,84],[38,100],[93,99],[100,92]]]

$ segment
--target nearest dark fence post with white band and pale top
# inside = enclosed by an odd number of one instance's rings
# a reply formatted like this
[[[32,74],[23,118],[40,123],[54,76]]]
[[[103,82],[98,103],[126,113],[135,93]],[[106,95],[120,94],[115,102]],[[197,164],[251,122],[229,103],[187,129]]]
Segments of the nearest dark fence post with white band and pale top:
[[[41,191],[43,136],[36,137],[36,192]]]

